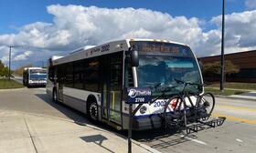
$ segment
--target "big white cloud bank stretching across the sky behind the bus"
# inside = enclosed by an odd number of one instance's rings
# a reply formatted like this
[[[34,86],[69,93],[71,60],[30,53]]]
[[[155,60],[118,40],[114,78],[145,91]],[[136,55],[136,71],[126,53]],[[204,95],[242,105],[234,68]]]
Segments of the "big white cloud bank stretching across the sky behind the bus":
[[[197,56],[217,55],[220,50],[220,16],[213,17],[211,21],[201,21],[196,17],[172,16],[144,8],[109,9],[82,5],[49,5],[48,13],[54,16],[52,23],[36,22],[20,27],[16,35],[0,35],[0,46],[34,46],[29,50],[37,53],[33,58],[27,56],[32,61],[67,53],[80,46],[131,37],[185,43]],[[256,29],[255,14],[255,11],[247,11],[226,15],[228,52],[256,47],[252,36]],[[204,32],[202,23],[219,27]],[[1,52],[0,49],[0,57],[5,56]],[[17,51],[16,55],[24,53]]]

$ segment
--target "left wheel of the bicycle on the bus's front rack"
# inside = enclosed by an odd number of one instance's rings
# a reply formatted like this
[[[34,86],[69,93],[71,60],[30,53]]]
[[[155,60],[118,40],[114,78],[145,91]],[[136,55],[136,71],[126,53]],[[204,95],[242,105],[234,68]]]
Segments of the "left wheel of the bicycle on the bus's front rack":
[[[178,96],[171,97],[165,103],[164,109],[164,119],[165,119],[165,128],[174,128],[176,126],[176,122],[181,113],[181,98]]]

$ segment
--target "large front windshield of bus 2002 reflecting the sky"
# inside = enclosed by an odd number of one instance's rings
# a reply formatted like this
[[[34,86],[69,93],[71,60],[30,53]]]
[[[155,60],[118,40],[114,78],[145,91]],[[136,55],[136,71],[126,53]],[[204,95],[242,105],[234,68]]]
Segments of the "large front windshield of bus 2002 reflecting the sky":
[[[154,42],[155,43],[155,42]],[[161,45],[161,46],[160,46]],[[139,66],[138,72],[138,85],[139,87],[153,88],[153,96],[161,94],[161,88],[174,87],[168,94],[174,95],[180,91],[175,79],[184,80],[190,83],[201,84],[201,76],[197,66],[197,59],[192,55],[188,46],[166,45],[164,52],[157,51],[157,44],[146,46],[138,44],[136,49],[139,51]],[[154,50],[150,50],[150,47]],[[158,49],[161,49],[162,44],[159,44]],[[140,50],[141,49],[141,50]],[[172,50],[174,49],[174,50]],[[157,84],[161,83],[159,89],[154,89]],[[202,92],[202,87],[188,86],[189,90],[193,92]]]

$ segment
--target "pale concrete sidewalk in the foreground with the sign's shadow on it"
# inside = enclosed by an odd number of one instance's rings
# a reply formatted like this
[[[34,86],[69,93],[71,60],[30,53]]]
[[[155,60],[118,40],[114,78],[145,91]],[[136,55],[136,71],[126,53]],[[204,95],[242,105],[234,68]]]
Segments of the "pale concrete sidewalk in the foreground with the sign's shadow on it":
[[[0,110],[0,150],[6,153],[127,152],[127,139],[90,125]],[[158,152],[133,141],[133,152]]]

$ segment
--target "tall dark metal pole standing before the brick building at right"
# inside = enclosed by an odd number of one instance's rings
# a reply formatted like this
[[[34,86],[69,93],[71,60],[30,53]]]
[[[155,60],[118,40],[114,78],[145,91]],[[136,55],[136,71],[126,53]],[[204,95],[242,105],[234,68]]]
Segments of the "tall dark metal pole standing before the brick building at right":
[[[221,63],[220,63],[220,70],[221,70],[221,78],[220,78],[220,91],[223,92],[224,89],[224,79],[225,79],[225,72],[224,72],[224,33],[225,33],[225,0],[222,0],[222,34],[221,34]]]

